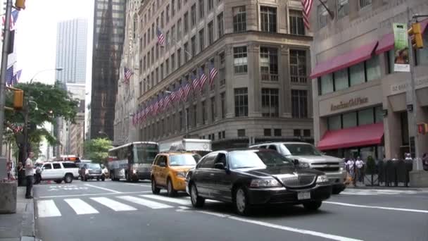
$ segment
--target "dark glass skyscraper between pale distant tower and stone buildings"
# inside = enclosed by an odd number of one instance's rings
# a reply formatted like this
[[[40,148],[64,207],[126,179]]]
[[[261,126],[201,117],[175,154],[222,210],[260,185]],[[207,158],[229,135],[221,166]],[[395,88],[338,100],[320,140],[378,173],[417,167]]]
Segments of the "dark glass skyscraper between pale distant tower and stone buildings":
[[[113,140],[122,56],[125,0],[95,0],[90,137]]]

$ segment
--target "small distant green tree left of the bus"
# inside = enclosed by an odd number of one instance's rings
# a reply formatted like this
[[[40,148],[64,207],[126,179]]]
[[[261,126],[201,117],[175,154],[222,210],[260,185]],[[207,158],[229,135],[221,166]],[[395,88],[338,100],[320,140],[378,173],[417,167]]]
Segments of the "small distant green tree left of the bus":
[[[97,163],[107,160],[108,149],[111,149],[111,140],[97,138],[84,142],[84,156]]]

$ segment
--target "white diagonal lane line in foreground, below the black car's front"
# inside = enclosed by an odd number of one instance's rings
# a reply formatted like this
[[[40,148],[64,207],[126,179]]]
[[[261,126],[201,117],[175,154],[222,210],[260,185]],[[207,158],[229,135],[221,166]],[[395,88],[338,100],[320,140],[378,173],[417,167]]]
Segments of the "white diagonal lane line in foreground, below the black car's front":
[[[253,223],[253,224],[265,226],[265,227],[268,227],[268,228],[276,228],[276,229],[286,230],[286,231],[290,231],[290,232],[294,232],[294,233],[301,233],[301,234],[304,234],[304,235],[312,235],[312,236],[317,236],[317,237],[324,237],[324,238],[327,238],[327,239],[330,239],[330,240],[362,241],[362,240],[353,239],[351,237],[343,237],[343,236],[338,236],[338,235],[331,235],[331,234],[328,234],[328,233],[320,233],[320,232],[306,230],[306,229],[301,229],[301,228],[291,228],[291,227],[287,227],[287,226],[283,226],[283,225],[277,225],[277,224],[273,224],[273,223],[266,223],[266,222],[262,222],[262,221],[255,221],[255,220],[246,219],[246,218],[239,218],[239,217],[235,217],[235,216],[229,216],[227,218],[232,219],[232,220],[236,220],[236,221],[241,221],[241,222],[244,222],[244,223]]]

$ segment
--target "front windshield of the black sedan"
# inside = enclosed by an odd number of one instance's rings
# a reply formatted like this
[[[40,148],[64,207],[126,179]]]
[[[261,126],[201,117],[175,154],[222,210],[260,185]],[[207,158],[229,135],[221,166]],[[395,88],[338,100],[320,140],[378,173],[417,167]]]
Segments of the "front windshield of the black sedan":
[[[291,166],[289,159],[277,152],[240,151],[230,153],[230,166],[239,168],[265,168],[267,166]]]

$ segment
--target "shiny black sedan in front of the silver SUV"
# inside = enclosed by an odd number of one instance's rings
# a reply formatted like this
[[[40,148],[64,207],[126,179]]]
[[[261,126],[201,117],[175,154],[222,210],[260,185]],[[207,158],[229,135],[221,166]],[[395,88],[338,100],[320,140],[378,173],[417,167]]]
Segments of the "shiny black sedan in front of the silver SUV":
[[[187,193],[195,207],[215,199],[234,203],[238,214],[265,204],[316,210],[332,194],[332,185],[325,173],[296,162],[269,149],[212,152],[187,174]]]

